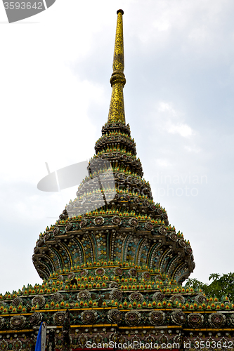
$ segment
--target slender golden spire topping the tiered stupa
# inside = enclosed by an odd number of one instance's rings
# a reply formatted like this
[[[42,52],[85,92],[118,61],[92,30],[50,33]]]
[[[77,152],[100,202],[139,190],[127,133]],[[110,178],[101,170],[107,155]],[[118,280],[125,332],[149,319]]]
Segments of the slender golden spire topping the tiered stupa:
[[[124,93],[123,88],[126,83],[124,76],[124,36],[123,20],[124,11],[117,11],[117,27],[115,34],[115,51],[113,59],[113,73],[110,78],[112,86],[112,95],[110,100],[110,110],[108,114],[108,123],[121,122],[125,124],[124,113]]]

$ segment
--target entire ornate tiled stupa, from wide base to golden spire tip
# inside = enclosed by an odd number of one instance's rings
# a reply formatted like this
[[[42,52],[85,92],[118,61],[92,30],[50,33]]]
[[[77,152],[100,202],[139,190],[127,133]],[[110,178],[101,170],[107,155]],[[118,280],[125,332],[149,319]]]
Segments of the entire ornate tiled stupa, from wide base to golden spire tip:
[[[44,282],[0,295],[1,351],[34,350],[41,322],[50,351],[233,346],[234,304],[181,286],[193,251],[143,178],[124,114],[122,15],[89,177],[39,236],[32,261]]]

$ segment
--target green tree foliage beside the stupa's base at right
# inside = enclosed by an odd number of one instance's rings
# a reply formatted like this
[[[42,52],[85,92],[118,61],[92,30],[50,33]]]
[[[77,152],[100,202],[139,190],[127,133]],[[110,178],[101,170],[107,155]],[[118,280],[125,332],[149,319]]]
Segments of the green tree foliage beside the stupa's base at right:
[[[209,276],[209,280],[213,282],[211,284],[204,284],[197,279],[188,279],[186,287],[191,287],[196,291],[202,289],[207,297],[214,297],[221,300],[223,296],[234,300],[234,273],[223,274],[222,276],[218,273],[212,273]]]

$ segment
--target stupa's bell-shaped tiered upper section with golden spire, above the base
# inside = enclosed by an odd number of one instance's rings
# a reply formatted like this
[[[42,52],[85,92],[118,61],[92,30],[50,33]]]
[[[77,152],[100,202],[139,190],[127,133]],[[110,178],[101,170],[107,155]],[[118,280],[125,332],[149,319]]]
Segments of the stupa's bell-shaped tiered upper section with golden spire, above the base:
[[[53,273],[65,277],[71,270],[79,272],[81,265],[103,260],[152,271],[153,277],[160,272],[181,284],[195,267],[189,241],[169,225],[166,210],[152,199],[126,125],[122,14],[119,10],[108,122],[76,199],[37,241],[33,262],[43,279]]]

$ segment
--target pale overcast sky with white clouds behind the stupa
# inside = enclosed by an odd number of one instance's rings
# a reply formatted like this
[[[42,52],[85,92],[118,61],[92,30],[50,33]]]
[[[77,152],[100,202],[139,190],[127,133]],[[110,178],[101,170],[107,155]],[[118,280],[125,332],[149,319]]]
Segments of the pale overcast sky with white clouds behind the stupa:
[[[89,159],[108,120],[117,9],[124,10],[126,122],[145,180],[190,240],[195,271],[234,272],[233,0],[56,0],[8,24],[0,6],[0,292],[41,282],[40,232],[76,187],[50,171]]]

